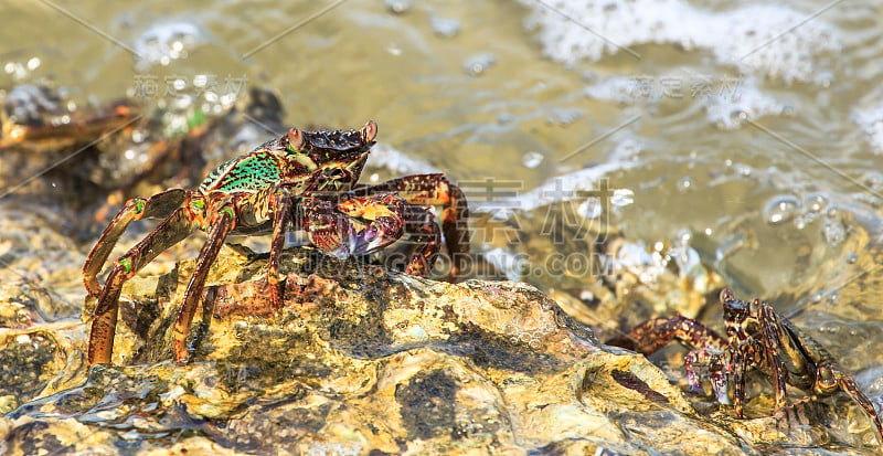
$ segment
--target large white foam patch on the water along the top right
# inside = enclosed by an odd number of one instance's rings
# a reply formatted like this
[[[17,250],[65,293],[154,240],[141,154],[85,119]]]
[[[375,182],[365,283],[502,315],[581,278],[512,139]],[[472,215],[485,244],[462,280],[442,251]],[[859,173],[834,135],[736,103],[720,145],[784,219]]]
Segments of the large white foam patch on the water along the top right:
[[[627,52],[640,44],[703,49],[743,73],[786,82],[825,83],[820,54],[841,49],[840,38],[813,12],[753,4],[727,11],[699,9],[682,0],[522,0],[533,7],[543,51],[566,64]]]

